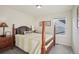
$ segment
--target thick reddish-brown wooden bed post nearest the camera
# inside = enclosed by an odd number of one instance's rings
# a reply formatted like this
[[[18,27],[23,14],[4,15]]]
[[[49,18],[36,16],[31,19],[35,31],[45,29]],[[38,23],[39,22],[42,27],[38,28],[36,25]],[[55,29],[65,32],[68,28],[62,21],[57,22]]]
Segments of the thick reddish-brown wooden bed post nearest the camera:
[[[42,45],[41,45],[41,54],[45,54],[45,21],[42,21]]]

